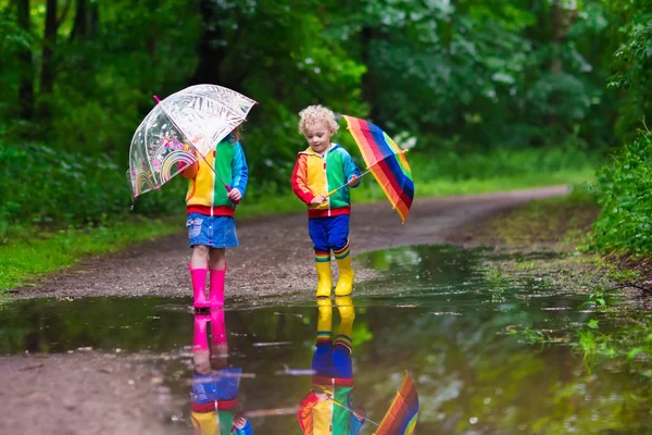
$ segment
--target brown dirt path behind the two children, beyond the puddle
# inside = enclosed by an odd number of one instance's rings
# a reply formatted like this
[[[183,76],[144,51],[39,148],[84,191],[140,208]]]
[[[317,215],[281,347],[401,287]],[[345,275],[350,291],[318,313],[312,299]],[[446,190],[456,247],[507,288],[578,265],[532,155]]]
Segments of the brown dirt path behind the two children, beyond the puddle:
[[[469,220],[479,220],[532,199],[567,192],[567,187],[555,186],[417,199],[405,225],[401,225],[398,214],[387,202],[354,206],[351,249],[355,254],[406,245],[457,241],[451,236],[455,228]],[[244,220],[238,222],[238,236],[240,247],[227,252],[227,298],[255,302],[271,295],[312,294],[316,275],[305,214]],[[190,297],[186,266],[189,253],[187,236],[179,233],[117,254],[89,259],[70,271],[46,278],[37,286],[17,288],[16,296]],[[356,273],[359,279],[364,279],[365,271]]]

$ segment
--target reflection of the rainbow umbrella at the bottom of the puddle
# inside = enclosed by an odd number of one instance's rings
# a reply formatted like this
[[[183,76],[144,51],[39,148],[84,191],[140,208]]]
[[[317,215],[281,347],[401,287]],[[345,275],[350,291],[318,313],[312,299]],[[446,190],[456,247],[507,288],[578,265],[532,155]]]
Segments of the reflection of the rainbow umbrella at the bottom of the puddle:
[[[405,372],[401,389],[391,402],[374,435],[410,435],[418,417],[418,395],[410,373]]]

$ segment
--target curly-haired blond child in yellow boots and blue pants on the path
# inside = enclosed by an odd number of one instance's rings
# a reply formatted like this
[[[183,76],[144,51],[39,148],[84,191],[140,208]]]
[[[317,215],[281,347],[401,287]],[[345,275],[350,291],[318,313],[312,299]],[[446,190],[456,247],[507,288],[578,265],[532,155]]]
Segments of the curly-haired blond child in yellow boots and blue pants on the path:
[[[340,270],[336,296],[353,289],[353,269],[349,246],[350,187],[360,184],[360,170],[346,149],[331,144],[339,125],[335,113],[322,105],[309,105],[299,115],[299,132],[308,145],[292,173],[292,189],[308,204],[308,228],[315,250],[317,297],[330,297],[330,251]],[[329,189],[348,186],[327,196]]]

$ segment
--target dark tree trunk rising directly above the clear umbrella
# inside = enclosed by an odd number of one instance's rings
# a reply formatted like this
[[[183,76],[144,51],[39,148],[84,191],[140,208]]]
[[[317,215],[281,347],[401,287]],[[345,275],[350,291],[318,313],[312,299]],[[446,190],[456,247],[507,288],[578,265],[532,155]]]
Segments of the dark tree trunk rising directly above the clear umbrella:
[[[192,84],[222,83],[221,66],[226,58],[226,47],[217,44],[224,35],[220,11],[211,0],[200,0],[199,11],[203,30],[199,41],[199,63],[191,82]]]

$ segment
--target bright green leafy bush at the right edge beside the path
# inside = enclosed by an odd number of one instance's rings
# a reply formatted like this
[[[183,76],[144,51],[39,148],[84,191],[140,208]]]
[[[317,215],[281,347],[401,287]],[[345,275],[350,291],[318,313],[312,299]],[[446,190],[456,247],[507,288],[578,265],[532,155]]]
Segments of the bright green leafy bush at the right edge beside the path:
[[[652,252],[652,135],[640,134],[603,167],[595,185],[602,211],[594,246],[601,252]]]

